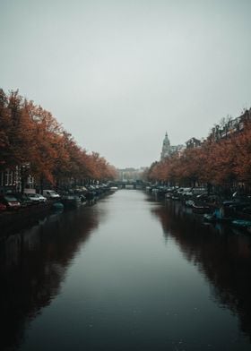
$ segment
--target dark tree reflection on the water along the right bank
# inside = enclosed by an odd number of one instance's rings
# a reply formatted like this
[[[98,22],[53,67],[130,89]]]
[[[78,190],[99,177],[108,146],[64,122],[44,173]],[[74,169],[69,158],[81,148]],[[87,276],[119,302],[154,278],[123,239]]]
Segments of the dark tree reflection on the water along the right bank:
[[[221,308],[238,315],[240,330],[251,339],[251,238],[229,227],[206,226],[201,218],[170,201],[151,212],[160,219],[165,237],[203,272]]]

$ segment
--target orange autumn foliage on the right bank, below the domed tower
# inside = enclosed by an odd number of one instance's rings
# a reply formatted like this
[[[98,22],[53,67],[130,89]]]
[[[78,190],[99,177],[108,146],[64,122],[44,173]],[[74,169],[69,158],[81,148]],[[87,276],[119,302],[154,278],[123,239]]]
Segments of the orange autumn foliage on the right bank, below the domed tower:
[[[199,148],[186,149],[151,165],[151,181],[194,185],[196,182],[228,185],[251,184],[251,122],[242,132],[220,141],[208,140]]]

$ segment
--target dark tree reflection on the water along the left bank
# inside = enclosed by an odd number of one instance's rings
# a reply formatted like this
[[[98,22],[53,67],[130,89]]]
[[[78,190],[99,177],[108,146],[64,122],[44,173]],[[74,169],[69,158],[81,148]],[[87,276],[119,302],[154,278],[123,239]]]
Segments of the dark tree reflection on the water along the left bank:
[[[67,267],[104,215],[91,208],[56,213],[1,242],[1,349],[20,345],[28,321],[58,294]]]

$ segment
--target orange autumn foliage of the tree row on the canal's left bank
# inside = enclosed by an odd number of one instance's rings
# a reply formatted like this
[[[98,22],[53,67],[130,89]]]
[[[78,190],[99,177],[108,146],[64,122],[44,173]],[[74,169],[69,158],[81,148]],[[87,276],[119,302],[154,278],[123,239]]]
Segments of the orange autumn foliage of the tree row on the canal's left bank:
[[[30,165],[36,179],[59,184],[70,179],[105,180],[115,168],[99,154],[87,154],[56,118],[18,91],[0,90],[0,169]]]

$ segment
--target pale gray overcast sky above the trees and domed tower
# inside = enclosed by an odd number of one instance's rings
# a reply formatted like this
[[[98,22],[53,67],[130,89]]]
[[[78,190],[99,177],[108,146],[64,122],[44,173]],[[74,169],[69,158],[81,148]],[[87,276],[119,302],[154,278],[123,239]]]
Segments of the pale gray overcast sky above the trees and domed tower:
[[[0,0],[0,87],[116,167],[251,107],[250,0]]]

